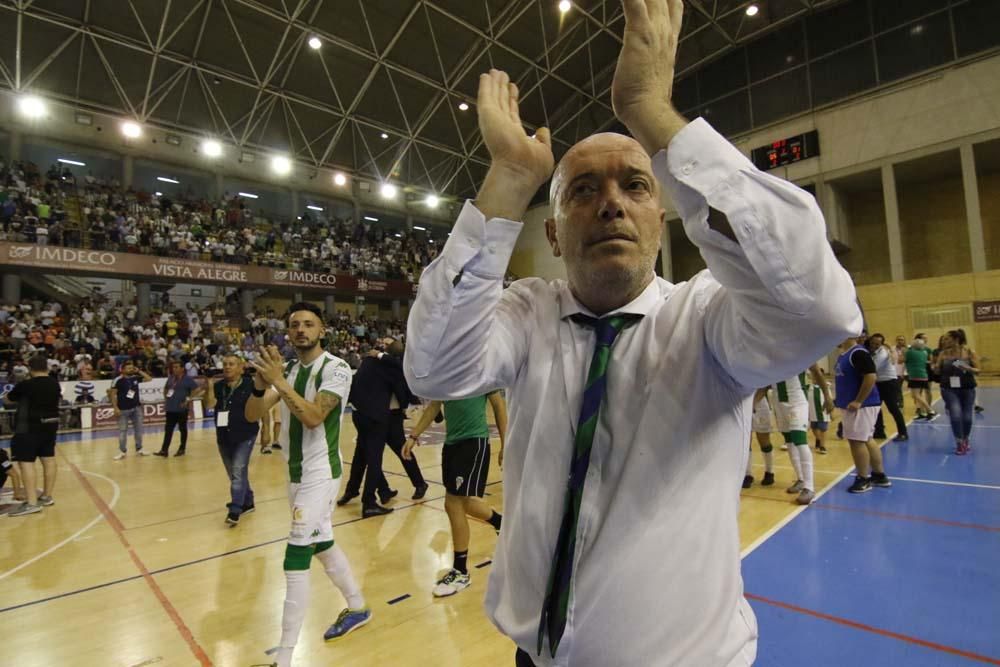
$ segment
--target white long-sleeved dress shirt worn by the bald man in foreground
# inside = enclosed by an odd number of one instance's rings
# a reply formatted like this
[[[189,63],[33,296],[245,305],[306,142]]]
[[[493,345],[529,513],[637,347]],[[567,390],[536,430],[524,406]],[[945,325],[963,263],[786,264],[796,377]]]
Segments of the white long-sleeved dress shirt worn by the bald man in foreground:
[[[508,389],[504,527],[486,595],[537,665],[749,665],[737,515],[755,387],[791,377],[861,330],[854,286],[811,196],[761,173],[706,122],[653,159],[709,270],[656,278],[615,313],[614,345],[555,659],[536,651],[594,332],[564,281],[503,276],[521,223],[466,203],[424,271],[407,325],[414,393]],[[711,230],[726,214],[736,243]]]

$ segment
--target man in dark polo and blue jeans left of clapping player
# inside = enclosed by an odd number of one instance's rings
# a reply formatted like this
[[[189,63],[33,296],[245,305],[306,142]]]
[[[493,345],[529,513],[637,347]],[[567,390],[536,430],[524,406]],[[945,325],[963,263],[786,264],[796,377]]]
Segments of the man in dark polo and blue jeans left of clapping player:
[[[250,488],[249,466],[259,425],[246,420],[247,399],[253,391],[253,380],[243,375],[245,364],[235,354],[222,360],[222,379],[208,383],[205,407],[215,410],[215,439],[219,445],[222,465],[229,475],[229,513],[226,523],[235,526],[240,516],[254,510],[253,489]]]

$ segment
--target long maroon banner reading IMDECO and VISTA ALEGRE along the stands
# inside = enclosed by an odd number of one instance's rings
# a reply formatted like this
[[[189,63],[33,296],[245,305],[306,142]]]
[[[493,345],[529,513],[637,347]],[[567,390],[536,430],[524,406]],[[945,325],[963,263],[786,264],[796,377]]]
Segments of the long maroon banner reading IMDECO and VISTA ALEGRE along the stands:
[[[157,257],[106,250],[40,246],[0,241],[0,266],[46,269],[53,273],[98,274],[114,278],[187,283],[276,285],[349,295],[409,299],[417,292],[406,280],[368,280],[351,275],[276,269],[244,264],[218,264],[177,257]]]

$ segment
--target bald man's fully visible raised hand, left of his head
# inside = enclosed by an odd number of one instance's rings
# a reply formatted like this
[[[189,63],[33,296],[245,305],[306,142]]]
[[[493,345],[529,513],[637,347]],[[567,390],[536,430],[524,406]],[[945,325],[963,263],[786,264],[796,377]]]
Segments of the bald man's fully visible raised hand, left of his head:
[[[490,70],[479,77],[476,104],[491,158],[476,204],[487,219],[519,220],[555,168],[549,131],[539,128],[534,137],[524,131],[517,85],[505,72]]]

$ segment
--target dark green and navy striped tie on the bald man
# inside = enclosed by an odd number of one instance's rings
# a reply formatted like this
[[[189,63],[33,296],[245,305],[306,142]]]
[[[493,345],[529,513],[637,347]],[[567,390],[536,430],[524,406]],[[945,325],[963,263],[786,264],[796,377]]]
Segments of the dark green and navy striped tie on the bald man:
[[[641,318],[641,315],[613,315],[598,320],[579,314],[572,317],[577,324],[592,327],[597,333],[597,342],[594,356],[590,360],[590,370],[587,372],[587,385],[583,391],[583,405],[580,408],[576,437],[573,441],[573,462],[566,489],[566,504],[562,524],[559,526],[559,539],[552,556],[552,568],[549,571],[549,584],[542,605],[542,615],[538,623],[538,655],[542,654],[542,645],[548,633],[549,651],[552,657],[555,657],[559,641],[566,629],[570,584],[573,579],[573,553],[576,549],[576,524],[580,518],[580,501],[583,500],[583,485],[590,465],[590,450],[594,444],[601,403],[604,402],[607,389],[611,347],[622,329],[635,324]]]

